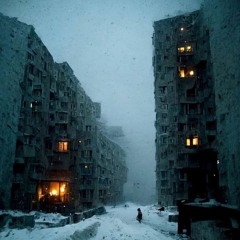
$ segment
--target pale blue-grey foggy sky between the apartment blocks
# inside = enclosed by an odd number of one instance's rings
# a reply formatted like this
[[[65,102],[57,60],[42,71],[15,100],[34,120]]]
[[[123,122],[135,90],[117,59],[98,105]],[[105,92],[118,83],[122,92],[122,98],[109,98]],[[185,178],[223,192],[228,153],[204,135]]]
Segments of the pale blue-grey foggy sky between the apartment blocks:
[[[200,0],[0,0],[0,12],[35,27],[56,62],[67,61],[108,125],[126,138],[126,200],[155,195],[153,22]]]

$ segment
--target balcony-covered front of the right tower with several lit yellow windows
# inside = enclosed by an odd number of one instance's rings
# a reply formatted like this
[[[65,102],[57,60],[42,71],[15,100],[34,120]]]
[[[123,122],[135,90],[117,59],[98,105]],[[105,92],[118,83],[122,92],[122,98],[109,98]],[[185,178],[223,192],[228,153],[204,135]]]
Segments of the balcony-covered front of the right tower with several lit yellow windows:
[[[158,201],[215,198],[218,190],[209,31],[199,11],[154,23]]]

